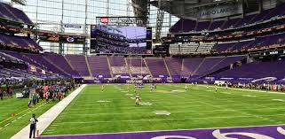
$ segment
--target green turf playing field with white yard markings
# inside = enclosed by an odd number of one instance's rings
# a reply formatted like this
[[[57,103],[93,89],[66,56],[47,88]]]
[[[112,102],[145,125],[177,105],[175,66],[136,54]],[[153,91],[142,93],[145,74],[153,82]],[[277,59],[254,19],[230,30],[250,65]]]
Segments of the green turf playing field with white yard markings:
[[[54,120],[44,135],[75,135],[243,127],[285,123],[285,94],[224,89],[199,85],[158,84],[139,89],[135,106],[133,86],[88,85]]]

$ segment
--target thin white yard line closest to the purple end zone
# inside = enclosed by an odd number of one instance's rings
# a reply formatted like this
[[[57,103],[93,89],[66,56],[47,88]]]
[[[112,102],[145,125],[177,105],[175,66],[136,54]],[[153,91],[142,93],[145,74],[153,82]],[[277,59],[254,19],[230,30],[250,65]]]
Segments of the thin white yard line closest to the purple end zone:
[[[215,119],[235,119],[235,118],[260,118],[260,117],[273,117],[285,116],[285,114],[275,115],[241,115],[241,116],[216,116],[216,117],[189,117],[183,119],[143,119],[143,120],[91,120],[91,121],[62,121],[59,124],[92,124],[92,123],[112,123],[112,122],[141,122],[141,121],[163,121],[163,120],[215,120]]]

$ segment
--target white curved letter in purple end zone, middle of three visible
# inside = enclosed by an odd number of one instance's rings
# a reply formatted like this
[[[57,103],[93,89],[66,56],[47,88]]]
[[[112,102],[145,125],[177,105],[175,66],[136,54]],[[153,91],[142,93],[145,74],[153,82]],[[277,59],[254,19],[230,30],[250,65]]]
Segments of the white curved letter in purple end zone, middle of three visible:
[[[217,139],[234,139],[233,137],[227,137],[226,135],[244,135],[254,139],[274,139],[267,135],[260,135],[256,133],[248,133],[248,132],[232,132],[232,133],[220,133],[220,130],[213,131],[212,135],[214,135]]]

